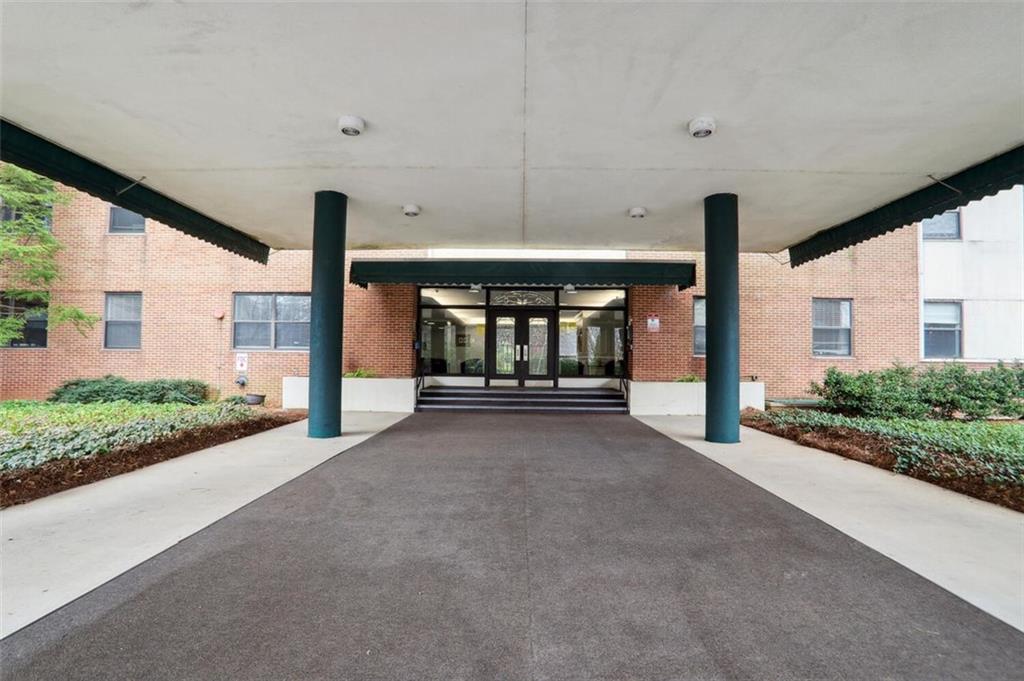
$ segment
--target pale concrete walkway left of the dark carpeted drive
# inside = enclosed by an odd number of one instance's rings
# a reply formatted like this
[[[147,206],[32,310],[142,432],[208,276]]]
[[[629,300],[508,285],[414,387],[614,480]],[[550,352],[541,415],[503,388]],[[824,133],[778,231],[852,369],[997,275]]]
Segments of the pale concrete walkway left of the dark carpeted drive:
[[[293,423],[0,511],[0,636],[406,416],[346,413],[345,435],[323,440]]]

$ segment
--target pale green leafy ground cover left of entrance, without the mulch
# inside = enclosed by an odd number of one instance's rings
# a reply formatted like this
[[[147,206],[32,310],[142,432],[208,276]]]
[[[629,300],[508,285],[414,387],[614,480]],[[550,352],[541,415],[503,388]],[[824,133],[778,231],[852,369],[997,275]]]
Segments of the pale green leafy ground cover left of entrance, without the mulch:
[[[258,411],[224,402],[68,405],[0,402],[0,470],[33,468],[145,444],[177,432],[256,418]]]

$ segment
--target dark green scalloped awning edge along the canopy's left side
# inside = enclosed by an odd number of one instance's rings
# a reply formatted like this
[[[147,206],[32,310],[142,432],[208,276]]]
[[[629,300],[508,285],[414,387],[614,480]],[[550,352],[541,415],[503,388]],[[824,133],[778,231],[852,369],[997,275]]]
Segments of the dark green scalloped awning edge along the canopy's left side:
[[[270,253],[268,246],[249,235],[6,120],[0,120],[0,160],[135,211],[250,260],[266,263]]]

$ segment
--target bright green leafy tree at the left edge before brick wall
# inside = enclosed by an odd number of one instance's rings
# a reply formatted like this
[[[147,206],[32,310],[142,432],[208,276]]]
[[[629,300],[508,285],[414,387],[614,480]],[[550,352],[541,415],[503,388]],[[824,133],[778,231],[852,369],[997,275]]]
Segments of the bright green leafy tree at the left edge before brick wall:
[[[0,347],[22,337],[34,310],[47,310],[47,328],[71,324],[79,333],[99,317],[78,307],[51,303],[50,290],[60,278],[53,237],[53,207],[68,203],[56,182],[34,172],[0,165]]]

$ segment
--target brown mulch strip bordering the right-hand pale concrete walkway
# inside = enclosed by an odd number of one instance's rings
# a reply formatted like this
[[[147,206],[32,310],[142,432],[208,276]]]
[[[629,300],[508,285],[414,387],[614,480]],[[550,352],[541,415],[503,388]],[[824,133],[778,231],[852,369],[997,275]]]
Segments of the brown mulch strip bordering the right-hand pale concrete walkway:
[[[889,443],[869,433],[850,428],[819,428],[807,431],[796,426],[776,426],[763,419],[748,415],[743,415],[742,423],[744,426],[785,437],[806,446],[831,452],[841,457],[870,464],[888,471],[892,471],[896,465],[896,457],[889,452]],[[919,480],[1024,513],[1024,487],[1021,486],[991,484],[978,477],[938,478],[929,477],[923,473],[910,473],[909,475]]]

